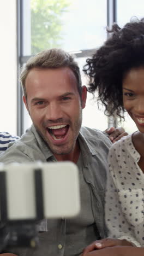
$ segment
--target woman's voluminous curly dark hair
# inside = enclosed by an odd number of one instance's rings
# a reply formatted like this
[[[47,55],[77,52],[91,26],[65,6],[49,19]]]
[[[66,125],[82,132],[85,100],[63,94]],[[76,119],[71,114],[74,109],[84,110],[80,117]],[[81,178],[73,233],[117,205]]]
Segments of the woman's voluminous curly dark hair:
[[[92,59],[87,59],[83,71],[88,75],[88,91],[98,90],[98,101],[108,115],[123,118],[122,82],[131,68],[144,66],[144,18],[133,20],[123,28],[113,24],[112,33]]]

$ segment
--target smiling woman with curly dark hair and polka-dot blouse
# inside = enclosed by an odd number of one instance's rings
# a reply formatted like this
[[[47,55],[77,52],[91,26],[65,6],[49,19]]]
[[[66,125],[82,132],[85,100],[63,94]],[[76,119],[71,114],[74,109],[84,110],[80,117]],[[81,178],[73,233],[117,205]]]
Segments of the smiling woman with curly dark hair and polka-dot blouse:
[[[111,37],[87,59],[88,90],[98,90],[106,114],[124,118],[127,110],[138,131],[114,143],[109,153],[106,240],[95,241],[85,255],[144,255],[144,19],[117,24]],[[121,241],[129,245],[121,246]],[[97,249],[96,251],[93,251]],[[100,249],[100,251],[98,250]]]

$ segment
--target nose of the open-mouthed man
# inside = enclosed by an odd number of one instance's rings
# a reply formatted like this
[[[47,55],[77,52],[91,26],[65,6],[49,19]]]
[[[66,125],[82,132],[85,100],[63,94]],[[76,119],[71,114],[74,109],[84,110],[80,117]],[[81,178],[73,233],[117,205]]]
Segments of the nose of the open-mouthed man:
[[[50,103],[46,108],[46,118],[49,120],[57,120],[62,118],[61,106],[57,103]]]

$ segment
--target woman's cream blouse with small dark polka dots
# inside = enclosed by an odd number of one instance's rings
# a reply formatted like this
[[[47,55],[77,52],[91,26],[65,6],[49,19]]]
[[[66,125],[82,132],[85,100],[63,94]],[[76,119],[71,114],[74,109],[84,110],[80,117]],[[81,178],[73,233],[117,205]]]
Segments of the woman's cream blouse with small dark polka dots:
[[[105,197],[109,236],[144,246],[144,173],[131,135],[112,145]]]

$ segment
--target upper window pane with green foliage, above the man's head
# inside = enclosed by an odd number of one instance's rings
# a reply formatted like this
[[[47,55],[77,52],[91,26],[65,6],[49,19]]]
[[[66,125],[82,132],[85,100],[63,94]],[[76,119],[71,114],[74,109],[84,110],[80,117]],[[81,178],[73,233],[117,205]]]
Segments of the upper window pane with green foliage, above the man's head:
[[[106,0],[31,0],[32,54],[46,48],[97,48],[105,38]]]

